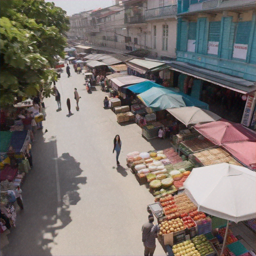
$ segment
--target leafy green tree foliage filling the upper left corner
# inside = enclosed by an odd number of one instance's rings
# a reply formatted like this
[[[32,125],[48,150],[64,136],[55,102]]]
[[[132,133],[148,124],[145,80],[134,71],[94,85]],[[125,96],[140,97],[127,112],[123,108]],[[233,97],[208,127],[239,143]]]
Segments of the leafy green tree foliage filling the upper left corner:
[[[69,20],[44,0],[1,0],[0,104],[15,97],[50,95],[55,56],[64,56]]]

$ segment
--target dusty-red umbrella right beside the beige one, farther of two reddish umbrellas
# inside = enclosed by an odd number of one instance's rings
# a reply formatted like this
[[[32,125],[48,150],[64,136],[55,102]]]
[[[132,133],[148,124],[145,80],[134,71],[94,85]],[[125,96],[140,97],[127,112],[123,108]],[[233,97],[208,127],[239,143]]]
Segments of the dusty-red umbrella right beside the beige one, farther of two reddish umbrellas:
[[[203,136],[216,145],[237,141],[255,141],[256,133],[240,123],[220,119],[218,121],[193,126]]]

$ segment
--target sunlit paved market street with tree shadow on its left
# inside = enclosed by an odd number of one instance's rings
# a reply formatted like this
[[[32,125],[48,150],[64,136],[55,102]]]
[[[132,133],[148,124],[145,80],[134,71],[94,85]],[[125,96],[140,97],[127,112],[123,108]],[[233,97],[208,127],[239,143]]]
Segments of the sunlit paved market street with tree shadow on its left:
[[[146,141],[135,124],[120,125],[106,94],[88,94],[82,74],[66,73],[54,97],[44,100],[46,121],[32,144],[34,167],[22,185],[24,210],[8,235],[3,255],[143,255],[141,225],[153,196],[126,167],[128,152],[167,147],[168,141]],[[73,89],[81,96],[75,110]],[[66,98],[73,115],[67,117]],[[48,132],[44,132],[47,128]],[[122,140],[120,166],[112,154],[113,138]],[[157,241],[155,255],[164,255]]]

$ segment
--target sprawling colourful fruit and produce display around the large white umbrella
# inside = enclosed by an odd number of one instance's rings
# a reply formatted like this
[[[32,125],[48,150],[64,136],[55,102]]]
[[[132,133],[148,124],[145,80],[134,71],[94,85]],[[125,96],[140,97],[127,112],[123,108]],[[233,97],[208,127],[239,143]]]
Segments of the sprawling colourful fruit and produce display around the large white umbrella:
[[[157,219],[159,242],[169,250],[172,249],[174,256],[220,255],[222,245],[212,234],[213,229],[219,227],[218,234],[222,239],[225,234],[225,221],[198,211],[197,206],[183,190],[183,183],[193,167],[198,166],[198,163],[213,164],[214,160],[228,160],[241,165],[229,153],[210,141],[199,140],[203,142],[200,147],[202,150],[191,151],[188,160],[183,155],[180,156],[173,147],[148,152],[133,151],[126,157],[127,166],[139,184],[148,184],[149,192],[154,196],[154,202],[149,204],[147,209]],[[183,145],[189,145],[190,149],[196,151],[196,146],[191,143]],[[205,156],[210,157],[203,159]],[[254,222],[249,223],[253,226]],[[224,255],[254,254],[248,251],[229,229]]]

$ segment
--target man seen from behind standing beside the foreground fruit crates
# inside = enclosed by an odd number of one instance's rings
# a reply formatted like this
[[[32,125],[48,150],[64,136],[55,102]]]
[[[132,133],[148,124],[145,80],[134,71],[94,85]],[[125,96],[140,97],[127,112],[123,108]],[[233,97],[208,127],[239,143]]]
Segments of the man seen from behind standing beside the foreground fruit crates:
[[[144,256],[153,256],[155,250],[155,238],[157,237],[158,225],[153,224],[154,217],[148,215],[148,222],[142,225],[142,242],[144,245]]]

